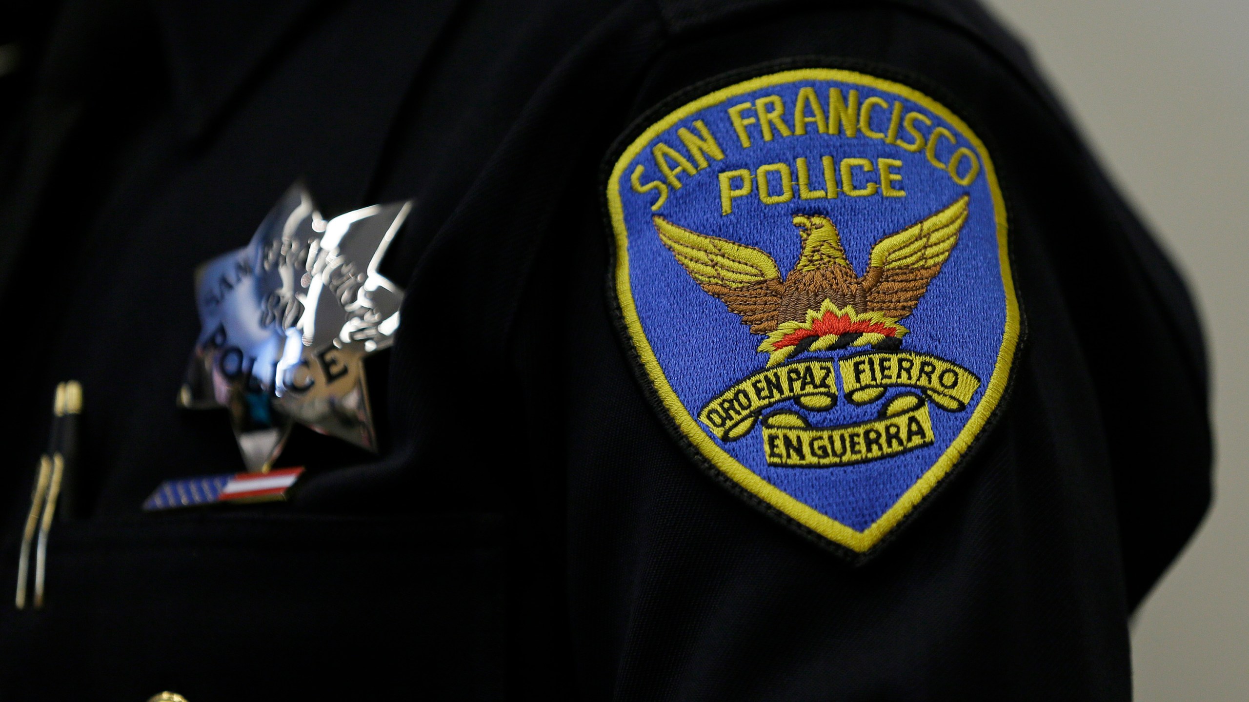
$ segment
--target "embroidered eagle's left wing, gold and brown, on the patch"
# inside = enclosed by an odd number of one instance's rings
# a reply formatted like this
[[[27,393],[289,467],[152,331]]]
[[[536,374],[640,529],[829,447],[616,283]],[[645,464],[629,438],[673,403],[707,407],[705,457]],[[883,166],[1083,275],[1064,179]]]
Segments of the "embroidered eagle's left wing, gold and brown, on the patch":
[[[717,236],[707,236],[656,216],[659,241],[672,251],[689,277],[719,299],[754,334],[777,327],[781,309],[781,271],[766,251]]]

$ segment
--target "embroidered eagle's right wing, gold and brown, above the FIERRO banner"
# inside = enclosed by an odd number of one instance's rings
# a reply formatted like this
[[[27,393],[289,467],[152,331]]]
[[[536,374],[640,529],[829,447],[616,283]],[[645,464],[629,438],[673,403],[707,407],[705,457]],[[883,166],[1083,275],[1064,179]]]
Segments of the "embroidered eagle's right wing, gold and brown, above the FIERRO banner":
[[[939,212],[886,236],[872,247],[863,289],[867,309],[901,320],[916,309],[940,272],[967,222],[968,196]]]

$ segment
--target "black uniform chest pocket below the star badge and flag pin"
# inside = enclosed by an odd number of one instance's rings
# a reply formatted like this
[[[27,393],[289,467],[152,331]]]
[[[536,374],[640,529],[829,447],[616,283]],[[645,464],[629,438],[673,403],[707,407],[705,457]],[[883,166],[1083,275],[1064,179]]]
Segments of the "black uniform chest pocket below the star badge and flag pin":
[[[496,698],[503,528],[492,515],[62,525],[45,607],[0,616],[0,697]]]

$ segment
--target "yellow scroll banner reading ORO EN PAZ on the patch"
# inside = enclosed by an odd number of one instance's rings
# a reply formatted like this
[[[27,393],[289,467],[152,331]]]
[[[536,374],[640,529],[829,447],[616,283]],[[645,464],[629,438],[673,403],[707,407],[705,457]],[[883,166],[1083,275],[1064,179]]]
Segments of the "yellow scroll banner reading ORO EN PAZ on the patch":
[[[804,410],[827,410],[837,403],[834,361],[794,361],[749,375],[721,392],[698,412],[722,441],[741,438],[777,402],[793,400]]]

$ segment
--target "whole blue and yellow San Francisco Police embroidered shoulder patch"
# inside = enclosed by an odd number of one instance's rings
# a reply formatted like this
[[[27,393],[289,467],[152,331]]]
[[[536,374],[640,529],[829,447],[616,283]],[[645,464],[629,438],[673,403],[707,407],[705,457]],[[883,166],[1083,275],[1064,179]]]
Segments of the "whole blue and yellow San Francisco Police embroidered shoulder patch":
[[[718,476],[863,553],[955,467],[1019,337],[984,145],[922,92],[786,70],[662,114],[611,171],[613,291]]]

